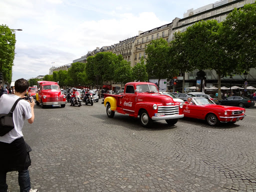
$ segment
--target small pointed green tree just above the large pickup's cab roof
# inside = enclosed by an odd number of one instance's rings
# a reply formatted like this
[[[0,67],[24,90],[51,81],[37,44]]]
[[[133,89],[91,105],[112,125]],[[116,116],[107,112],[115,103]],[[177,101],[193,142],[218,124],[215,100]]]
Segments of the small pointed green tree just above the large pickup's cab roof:
[[[145,60],[144,57],[142,56],[140,58],[140,62],[138,62],[135,66],[132,67],[132,80],[136,81],[147,81],[148,80],[148,75],[146,72],[146,65],[144,64]]]

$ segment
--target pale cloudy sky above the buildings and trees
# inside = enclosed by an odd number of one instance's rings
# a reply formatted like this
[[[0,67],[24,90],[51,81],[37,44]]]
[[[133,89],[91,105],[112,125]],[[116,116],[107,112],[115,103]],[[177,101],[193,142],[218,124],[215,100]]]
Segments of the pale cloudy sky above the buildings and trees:
[[[183,18],[216,0],[1,0],[0,24],[16,31],[12,81],[48,74],[96,47]],[[54,62],[54,63],[52,63]]]

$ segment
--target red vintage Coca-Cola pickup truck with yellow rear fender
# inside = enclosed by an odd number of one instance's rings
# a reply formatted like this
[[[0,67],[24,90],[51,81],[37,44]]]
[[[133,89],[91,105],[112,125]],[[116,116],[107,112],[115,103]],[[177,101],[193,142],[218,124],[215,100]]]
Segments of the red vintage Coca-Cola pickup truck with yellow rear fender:
[[[104,94],[106,114],[113,117],[114,112],[138,117],[144,127],[153,120],[165,120],[169,125],[184,115],[179,114],[179,103],[171,97],[159,94],[157,86],[150,82],[128,82],[122,94]]]

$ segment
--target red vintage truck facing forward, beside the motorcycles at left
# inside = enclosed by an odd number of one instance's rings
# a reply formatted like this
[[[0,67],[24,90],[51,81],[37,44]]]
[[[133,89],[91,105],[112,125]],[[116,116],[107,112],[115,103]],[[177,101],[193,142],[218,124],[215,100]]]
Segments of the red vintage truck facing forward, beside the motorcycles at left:
[[[61,94],[57,82],[37,81],[37,87],[39,87],[39,89],[36,93],[36,105],[41,103],[42,108],[46,105],[65,107],[66,96]]]

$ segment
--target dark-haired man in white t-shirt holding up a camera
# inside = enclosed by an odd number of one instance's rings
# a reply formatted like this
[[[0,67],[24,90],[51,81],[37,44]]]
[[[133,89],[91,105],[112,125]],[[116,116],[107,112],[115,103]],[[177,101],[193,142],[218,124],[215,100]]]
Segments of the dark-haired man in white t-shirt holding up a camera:
[[[3,94],[0,98],[0,113],[7,114],[14,102],[22,98],[29,86],[27,80],[20,78],[15,81],[16,92],[14,94]],[[8,104],[6,104],[8,103]],[[24,120],[29,123],[34,121],[34,101],[21,99],[13,111],[14,128],[0,136],[0,192],[6,192],[6,173],[8,171],[18,171],[18,184],[22,192],[37,192],[31,189],[28,166],[31,165],[29,151],[30,146],[24,141],[22,127]]]

